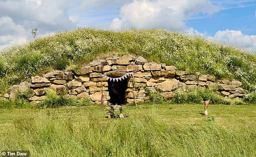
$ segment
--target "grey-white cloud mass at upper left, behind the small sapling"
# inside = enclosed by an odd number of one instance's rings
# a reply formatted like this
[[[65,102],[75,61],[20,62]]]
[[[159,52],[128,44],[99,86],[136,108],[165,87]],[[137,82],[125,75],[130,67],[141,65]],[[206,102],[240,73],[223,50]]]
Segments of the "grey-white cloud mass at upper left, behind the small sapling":
[[[0,49],[33,39],[34,28],[39,35],[76,28],[67,14],[72,4],[69,0],[0,0]]]

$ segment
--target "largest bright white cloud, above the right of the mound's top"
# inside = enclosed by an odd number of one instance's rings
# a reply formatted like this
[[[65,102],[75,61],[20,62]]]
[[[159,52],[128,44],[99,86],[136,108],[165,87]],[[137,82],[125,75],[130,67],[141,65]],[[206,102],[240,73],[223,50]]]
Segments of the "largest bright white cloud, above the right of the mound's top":
[[[219,11],[209,0],[134,0],[121,7],[120,17],[114,18],[112,29],[162,28],[186,30],[184,22],[197,14],[214,14]]]

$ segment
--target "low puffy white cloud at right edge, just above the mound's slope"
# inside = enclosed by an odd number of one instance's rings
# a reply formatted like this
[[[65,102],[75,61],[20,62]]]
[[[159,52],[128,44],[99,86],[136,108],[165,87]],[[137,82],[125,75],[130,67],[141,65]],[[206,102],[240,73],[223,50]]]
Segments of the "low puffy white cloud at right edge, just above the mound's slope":
[[[256,52],[256,35],[243,35],[241,31],[227,29],[226,31],[218,31],[214,35],[214,39]]]

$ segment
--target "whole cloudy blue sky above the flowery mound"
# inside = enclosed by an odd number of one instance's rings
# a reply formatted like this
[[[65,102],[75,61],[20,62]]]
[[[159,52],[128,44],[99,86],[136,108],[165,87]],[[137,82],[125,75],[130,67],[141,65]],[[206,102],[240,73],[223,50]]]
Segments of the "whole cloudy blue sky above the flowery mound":
[[[159,28],[256,52],[256,0],[0,0],[0,50],[77,27]]]

